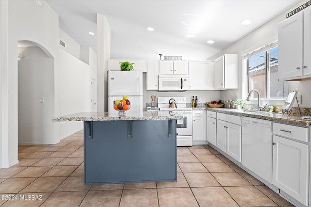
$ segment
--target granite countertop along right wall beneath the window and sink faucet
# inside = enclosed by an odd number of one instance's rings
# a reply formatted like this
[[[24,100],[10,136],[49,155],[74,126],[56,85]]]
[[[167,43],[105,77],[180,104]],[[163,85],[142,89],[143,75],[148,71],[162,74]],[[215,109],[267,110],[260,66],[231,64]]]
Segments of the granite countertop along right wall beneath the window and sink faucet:
[[[238,115],[238,116],[247,116],[252,118],[258,118],[258,119],[265,119],[275,122],[281,122],[285,124],[293,124],[293,125],[300,125],[309,127],[311,124],[311,120],[304,120],[301,119],[300,116],[294,116],[294,115],[285,115],[282,113],[269,113],[269,112],[252,112],[252,111],[244,111],[244,110],[234,110],[234,109],[225,109],[225,108],[205,108],[208,111],[216,111],[216,112],[222,112],[226,114],[231,115]]]

